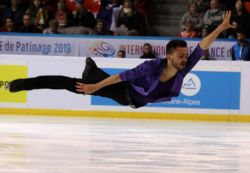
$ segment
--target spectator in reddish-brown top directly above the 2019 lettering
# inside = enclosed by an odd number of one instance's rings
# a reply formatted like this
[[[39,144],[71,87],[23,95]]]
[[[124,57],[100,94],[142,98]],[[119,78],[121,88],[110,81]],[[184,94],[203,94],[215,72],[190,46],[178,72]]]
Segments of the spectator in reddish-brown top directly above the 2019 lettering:
[[[58,21],[59,28],[64,28],[68,25],[70,20],[70,12],[68,11],[64,0],[59,0],[57,2],[55,19]]]

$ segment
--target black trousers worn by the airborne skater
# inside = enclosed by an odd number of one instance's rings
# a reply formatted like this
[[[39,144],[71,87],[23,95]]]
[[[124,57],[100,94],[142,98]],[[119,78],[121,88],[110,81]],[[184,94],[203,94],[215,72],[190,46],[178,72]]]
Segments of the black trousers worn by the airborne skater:
[[[83,75],[84,76],[84,75]],[[86,76],[86,75],[85,75]],[[110,75],[105,73],[100,68],[96,67],[89,71],[87,77],[82,79],[71,78],[67,76],[38,76],[35,78],[28,78],[25,81],[26,90],[33,89],[65,89],[73,93],[76,91],[76,82],[83,82],[86,84],[94,84]],[[132,105],[131,97],[129,95],[129,86],[127,82],[119,82],[117,84],[106,86],[91,95],[107,97],[113,99],[121,105]]]

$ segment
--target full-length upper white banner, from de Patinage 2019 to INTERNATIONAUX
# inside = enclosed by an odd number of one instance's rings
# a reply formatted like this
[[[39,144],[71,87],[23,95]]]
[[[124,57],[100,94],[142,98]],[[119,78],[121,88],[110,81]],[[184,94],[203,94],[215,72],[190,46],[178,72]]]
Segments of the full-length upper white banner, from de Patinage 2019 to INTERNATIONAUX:
[[[77,57],[116,57],[119,50],[126,58],[140,58],[143,45],[150,43],[154,53],[166,57],[166,44],[174,37],[122,37],[43,34],[0,34],[0,54],[55,55]],[[200,39],[187,39],[189,53]],[[209,48],[212,60],[231,60],[231,48],[236,40],[216,40]]]

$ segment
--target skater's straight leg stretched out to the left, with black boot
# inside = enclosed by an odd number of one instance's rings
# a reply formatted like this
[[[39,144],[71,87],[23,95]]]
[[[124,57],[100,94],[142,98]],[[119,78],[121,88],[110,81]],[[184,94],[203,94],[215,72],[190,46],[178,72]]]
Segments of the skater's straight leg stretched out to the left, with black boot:
[[[10,92],[18,92],[34,89],[65,89],[73,93],[84,94],[76,91],[76,82],[91,83],[90,80],[84,81],[67,76],[38,76],[27,79],[16,79],[10,82],[9,90]],[[95,80],[93,83],[96,82],[99,81]],[[115,100],[119,104],[129,105],[126,95],[126,85],[124,82],[113,84],[96,91],[92,95],[107,97]]]

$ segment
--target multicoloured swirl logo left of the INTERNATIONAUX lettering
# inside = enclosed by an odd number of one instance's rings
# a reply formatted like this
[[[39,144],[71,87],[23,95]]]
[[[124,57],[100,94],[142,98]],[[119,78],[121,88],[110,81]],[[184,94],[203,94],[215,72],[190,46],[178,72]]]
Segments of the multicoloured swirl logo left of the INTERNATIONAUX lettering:
[[[93,56],[101,56],[101,57],[113,57],[115,54],[114,47],[103,41],[96,41],[90,48],[91,54]]]

